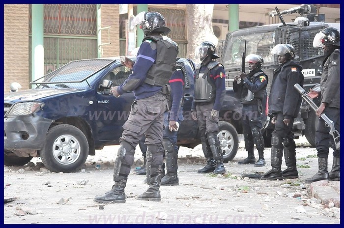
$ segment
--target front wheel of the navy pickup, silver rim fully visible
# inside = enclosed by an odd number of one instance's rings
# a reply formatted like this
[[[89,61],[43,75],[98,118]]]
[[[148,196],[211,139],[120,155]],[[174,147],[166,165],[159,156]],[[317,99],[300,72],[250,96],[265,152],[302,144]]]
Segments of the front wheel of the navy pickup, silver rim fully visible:
[[[86,136],[72,125],[54,126],[48,131],[40,156],[44,166],[50,171],[76,171],[84,165],[88,156]]]

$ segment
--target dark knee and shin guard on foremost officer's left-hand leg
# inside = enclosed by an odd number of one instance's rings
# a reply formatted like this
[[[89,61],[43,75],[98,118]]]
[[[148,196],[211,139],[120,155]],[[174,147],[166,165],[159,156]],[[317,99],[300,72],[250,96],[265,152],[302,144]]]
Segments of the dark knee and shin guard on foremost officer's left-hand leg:
[[[127,146],[126,143],[121,142],[114,165],[114,181],[128,177],[130,168],[134,163],[135,149],[132,148],[131,145]]]

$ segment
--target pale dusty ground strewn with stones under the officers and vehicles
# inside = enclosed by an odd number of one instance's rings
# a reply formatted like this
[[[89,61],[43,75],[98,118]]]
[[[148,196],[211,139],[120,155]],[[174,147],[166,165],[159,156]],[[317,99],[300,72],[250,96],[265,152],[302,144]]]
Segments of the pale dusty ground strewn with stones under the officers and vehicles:
[[[224,175],[197,173],[206,163],[201,145],[181,147],[179,185],[161,186],[161,202],[135,199],[147,185],[145,176],[134,171],[128,177],[126,203],[93,201],[113,185],[117,146],[97,150],[75,173],[50,172],[39,158],[23,167],[4,167],[4,198],[16,198],[4,204],[4,224],[340,224],[340,208],[324,208],[304,182],[317,172],[316,150],[305,138],[295,141],[300,177],[282,181],[241,177],[268,171],[270,148],[265,149],[266,166],[238,165],[247,156],[240,138],[238,153],[225,164]],[[135,158],[132,170],[141,164],[139,147]]]

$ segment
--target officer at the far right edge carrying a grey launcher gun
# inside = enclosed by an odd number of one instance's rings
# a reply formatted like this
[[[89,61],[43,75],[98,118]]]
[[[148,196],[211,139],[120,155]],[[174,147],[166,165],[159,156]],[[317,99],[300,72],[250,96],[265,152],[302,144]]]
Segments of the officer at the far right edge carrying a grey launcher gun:
[[[322,47],[326,56],[322,62],[322,76],[320,80],[320,92],[312,90],[308,93],[310,98],[321,95],[321,104],[315,114],[326,114],[340,133],[340,106],[341,106],[341,32],[337,28],[328,27],[317,33],[313,40],[315,48]],[[332,137],[329,135],[329,127],[322,118],[318,119],[315,131],[316,150],[318,155],[318,172],[306,183],[318,180],[341,180],[340,149],[336,148]],[[333,164],[330,173],[327,171],[327,158],[329,147],[333,148]]]

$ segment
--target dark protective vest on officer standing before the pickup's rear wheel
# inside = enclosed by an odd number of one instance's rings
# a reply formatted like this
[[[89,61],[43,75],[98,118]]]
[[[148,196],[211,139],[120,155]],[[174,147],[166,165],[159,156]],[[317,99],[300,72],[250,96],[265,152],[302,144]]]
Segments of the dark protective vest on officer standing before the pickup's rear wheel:
[[[210,61],[204,72],[200,73],[201,65],[195,73],[195,102],[211,102],[216,96],[216,86],[210,79],[210,70],[220,64],[216,61]]]

